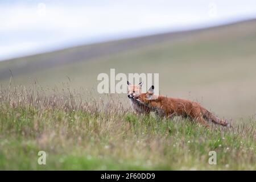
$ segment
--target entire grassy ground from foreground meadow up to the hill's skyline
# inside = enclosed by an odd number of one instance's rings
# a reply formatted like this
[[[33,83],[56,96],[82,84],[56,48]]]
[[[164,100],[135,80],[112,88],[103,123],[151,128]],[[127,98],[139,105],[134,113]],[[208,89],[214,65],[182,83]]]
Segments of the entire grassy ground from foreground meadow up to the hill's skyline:
[[[0,169],[255,170],[255,32],[250,20],[0,61]],[[135,115],[126,94],[97,94],[110,68],[159,73],[161,94],[233,128]]]

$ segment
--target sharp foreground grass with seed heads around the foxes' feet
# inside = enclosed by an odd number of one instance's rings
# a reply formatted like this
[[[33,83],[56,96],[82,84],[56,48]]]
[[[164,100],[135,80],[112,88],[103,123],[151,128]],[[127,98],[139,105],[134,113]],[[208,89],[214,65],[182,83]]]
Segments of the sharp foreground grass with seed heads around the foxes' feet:
[[[256,169],[255,118],[207,129],[182,118],[138,116],[109,96],[81,94],[0,89],[0,169]],[[42,150],[46,165],[37,163]],[[217,165],[208,164],[209,151],[217,152]]]

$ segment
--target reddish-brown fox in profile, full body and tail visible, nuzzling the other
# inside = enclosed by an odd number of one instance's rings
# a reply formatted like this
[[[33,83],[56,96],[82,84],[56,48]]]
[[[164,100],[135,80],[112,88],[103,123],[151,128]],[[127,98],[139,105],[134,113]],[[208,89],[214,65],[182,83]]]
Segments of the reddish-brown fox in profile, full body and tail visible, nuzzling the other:
[[[134,96],[134,99],[149,107],[151,110],[156,110],[159,115],[165,117],[180,115],[182,117],[195,119],[197,122],[207,127],[209,127],[207,121],[222,126],[229,126],[226,120],[217,118],[216,115],[210,113],[197,102],[154,95],[154,85],[151,86],[147,93],[137,94]]]

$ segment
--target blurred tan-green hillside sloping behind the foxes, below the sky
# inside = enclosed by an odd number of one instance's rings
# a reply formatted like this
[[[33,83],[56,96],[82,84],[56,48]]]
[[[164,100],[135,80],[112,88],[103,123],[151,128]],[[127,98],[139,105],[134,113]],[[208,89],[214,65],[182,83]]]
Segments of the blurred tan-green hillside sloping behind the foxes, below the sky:
[[[161,94],[198,100],[221,117],[256,113],[256,20],[67,48],[0,62],[0,82],[96,89],[97,75],[159,73]],[[11,73],[10,73],[11,70]],[[123,102],[126,96],[122,95]]]

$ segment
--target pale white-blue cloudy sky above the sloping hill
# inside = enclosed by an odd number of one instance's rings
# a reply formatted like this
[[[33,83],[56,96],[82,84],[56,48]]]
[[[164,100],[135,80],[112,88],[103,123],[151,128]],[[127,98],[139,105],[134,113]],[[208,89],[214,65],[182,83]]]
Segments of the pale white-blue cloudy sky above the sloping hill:
[[[256,18],[256,1],[0,1],[0,60]]]

